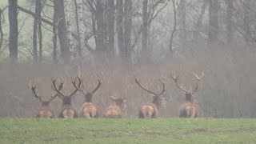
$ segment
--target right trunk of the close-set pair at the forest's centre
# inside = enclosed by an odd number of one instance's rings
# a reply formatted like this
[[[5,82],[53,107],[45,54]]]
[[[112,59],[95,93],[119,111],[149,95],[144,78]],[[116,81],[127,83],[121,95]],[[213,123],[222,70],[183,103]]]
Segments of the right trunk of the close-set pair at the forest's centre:
[[[123,58],[126,58],[126,60],[129,60],[131,58],[131,27],[132,27],[132,1],[131,0],[125,0],[125,19],[124,19],[124,49],[125,54],[123,55]]]

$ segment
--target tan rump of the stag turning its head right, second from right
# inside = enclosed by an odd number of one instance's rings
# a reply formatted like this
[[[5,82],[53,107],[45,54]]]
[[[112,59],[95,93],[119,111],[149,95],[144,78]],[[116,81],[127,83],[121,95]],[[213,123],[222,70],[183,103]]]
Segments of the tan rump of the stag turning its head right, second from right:
[[[142,106],[139,110],[138,118],[157,118],[158,108],[153,103]]]

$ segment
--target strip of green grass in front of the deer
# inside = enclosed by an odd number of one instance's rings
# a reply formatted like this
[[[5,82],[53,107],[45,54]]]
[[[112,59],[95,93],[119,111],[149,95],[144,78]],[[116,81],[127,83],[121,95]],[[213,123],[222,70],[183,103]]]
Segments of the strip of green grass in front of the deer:
[[[1,143],[256,143],[256,119],[0,118]]]

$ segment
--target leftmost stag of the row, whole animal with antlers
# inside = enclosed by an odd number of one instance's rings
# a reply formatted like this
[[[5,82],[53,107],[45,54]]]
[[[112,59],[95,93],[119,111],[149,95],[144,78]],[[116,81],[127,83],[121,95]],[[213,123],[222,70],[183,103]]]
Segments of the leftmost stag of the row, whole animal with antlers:
[[[62,90],[63,83],[60,84],[58,90]],[[42,100],[41,96],[38,96],[36,93],[36,85],[34,85],[34,81],[30,84],[30,89],[32,90],[32,94],[35,98],[38,98],[39,102],[41,103],[42,109],[38,111],[37,118],[53,118],[54,112],[50,110],[50,102],[57,96],[54,94],[50,100],[44,101]]]

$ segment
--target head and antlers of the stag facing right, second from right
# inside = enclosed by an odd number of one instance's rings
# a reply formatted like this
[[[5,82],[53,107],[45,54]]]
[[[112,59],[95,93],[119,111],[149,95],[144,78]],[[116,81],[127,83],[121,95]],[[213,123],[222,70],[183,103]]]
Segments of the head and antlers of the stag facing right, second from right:
[[[143,87],[138,80],[135,78],[135,82],[138,84],[138,86],[140,86],[142,88],[142,90],[146,90],[148,93],[153,94],[153,101],[152,103],[154,103],[156,106],[165,106],[166,105],[166,98],[162,97],[162,94],[166,91],[165,90],[165,83],[162,82],[161,79],[159,79],[159,81],[162,83],[162,91],[160,93],[154,93],[150,90],[147,90],[145,87]]]

